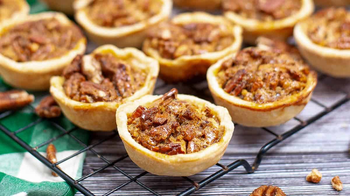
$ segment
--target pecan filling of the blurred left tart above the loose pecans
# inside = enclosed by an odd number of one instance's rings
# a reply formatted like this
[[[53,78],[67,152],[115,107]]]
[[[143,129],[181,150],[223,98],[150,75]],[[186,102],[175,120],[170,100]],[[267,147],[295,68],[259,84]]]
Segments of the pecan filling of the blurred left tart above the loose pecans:
[[[55,18],[16,25],[0,37],[2,55],[17,61],[57,58],[73,49],[83,37],[75,25],[62,25]]]

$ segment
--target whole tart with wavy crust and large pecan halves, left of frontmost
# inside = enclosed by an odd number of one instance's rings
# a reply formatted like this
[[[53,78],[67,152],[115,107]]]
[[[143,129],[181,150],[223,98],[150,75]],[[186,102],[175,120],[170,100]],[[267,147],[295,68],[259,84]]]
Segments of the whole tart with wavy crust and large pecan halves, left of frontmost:
[[[141,51],[104,45],[52,77],[50,92],[77,126],[108,131],[117,128],[119,105],[153,93],[158,73],[158,62]]]

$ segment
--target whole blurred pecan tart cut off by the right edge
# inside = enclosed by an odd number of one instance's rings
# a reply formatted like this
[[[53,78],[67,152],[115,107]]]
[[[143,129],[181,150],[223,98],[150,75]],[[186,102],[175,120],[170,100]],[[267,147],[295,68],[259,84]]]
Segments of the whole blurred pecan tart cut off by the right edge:
[[[350,12],[325,8],[298,23],[294,37],[302,56],[317,70],[350,77]]]

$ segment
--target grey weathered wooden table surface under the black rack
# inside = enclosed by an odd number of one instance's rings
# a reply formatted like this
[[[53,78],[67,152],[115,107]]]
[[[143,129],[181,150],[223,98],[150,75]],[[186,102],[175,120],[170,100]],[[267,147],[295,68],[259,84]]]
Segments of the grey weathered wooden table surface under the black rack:
[[[189,93],[201,98],[212,100],[207,83],[196,85],[166,85],[158,81],[155,94],[166,92],[172,87],[180,93]],[[297,117],[308,120],[311,116],[336,104],[339,100],[350,95],[349,79],[334,79],[328,76],[319,76],[313,99]],[[316,104],[318,103],[318,104]],[[193,195],[249,195],[261,185],[275,185],[282,188],[288,196],[291,195],[350,195],[350,101],[336,110],[323,116],[321,119],[300,130],[287,140],[268,151],[260,167],[255,173],[247,174],[242,166],[222,176]],[[269,127],[269,130],[281,134],[300,122],[292,119],[284,125]],[[98,142],[110,133],[94,133],[91,143]],[[272,140],[273,135],[261,128],[249,128],[237,125],[232,140],[219,163],[228,165],[237,159],[245,159],[253,163],[261,146]],[[124,145],[116,136],[94,148],[109,161],[116,160],[126,154]],[[87,153],[84,174],[96,170],[105,163],[96,155]],[[130,158],[116,164],[131,176],[144,172],[135,165]],[[305,180],[312,168],[318,168],[323,174],[318,184]],[[213,166],[204,172],[190,176],[195,182],[201,181],[212,173],[221,169]],[[344,189],[340,192],[331,187],[331,179],[339,175]],[[103,195],[107,191],[128,181],[123,174],[113,167],[84,180],[82,184],[96,195]],[[156,176],[146,174],[140,182],[152,188],[161,195],[176,195],[191,187],[191,183],[181,177]],[[81,195],[78,193],[77,195]],[[135,182],[116,191],[112,195],[152,195]]]

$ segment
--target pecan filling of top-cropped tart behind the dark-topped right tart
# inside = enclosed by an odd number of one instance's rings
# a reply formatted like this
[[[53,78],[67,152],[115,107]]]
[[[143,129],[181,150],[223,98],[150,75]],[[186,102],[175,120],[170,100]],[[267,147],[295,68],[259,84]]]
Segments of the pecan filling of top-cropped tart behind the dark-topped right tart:
[[[289,17],[301,9],[301,0],[223,0],[225,11],[260,21]]]

